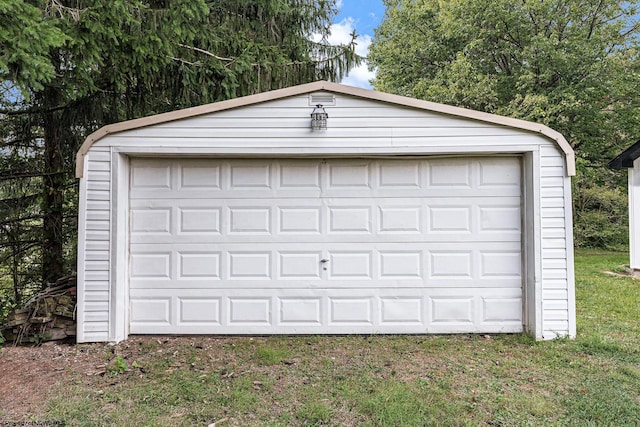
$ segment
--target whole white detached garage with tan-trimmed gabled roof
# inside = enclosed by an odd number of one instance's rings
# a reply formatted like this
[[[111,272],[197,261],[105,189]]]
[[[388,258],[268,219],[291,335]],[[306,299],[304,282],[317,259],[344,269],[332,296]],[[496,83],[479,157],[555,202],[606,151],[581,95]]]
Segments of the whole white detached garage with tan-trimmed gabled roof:
[[[574,154],[543,125],[315,82],[106,126],[76,173],[79,342],[575,336]]]

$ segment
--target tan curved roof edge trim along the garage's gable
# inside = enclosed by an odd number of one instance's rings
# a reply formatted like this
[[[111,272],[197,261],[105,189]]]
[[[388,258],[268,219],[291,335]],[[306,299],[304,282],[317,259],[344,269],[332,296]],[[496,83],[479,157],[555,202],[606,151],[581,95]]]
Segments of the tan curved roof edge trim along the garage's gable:
[[[89,135],[78,150],[78,154],[76,156],[76,177],[82,177],[84,170],[84,156],[89,151],[89,148],[91,148],[91,146],[96,141],[104,138],[109,134],[317,91],[350,95],[364,99],[386,102],[389,104],[396,104],[403,107],[412,107],[416,109],[448,114],[451,116],[478,120],[481,122],[493,123],[539,133],[555,141],[558,144],[560,150],[564,152],[567,165],[567,174],[569,176],[573,176],[576,173],[575,155],[567,140],[559,132],[556,132],[555,130],[539,123],[527,122],[525,120],[498,116],[496,114],[483,113],[481,111],[468,110],[465,108],[453,107],[450,105],[437,104],[435,102],[422,101],[384,92],[360,89],[352,86],[341,85],[338,83],[318,81],[104,126]]]

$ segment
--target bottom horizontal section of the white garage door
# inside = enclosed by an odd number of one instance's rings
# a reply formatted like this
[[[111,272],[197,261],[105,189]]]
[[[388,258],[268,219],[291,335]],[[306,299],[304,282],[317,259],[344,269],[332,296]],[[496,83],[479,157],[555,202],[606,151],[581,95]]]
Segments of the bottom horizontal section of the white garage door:
[[[521,306],[517,289],[499,288],[135,290],[131,333],[518,332]]]

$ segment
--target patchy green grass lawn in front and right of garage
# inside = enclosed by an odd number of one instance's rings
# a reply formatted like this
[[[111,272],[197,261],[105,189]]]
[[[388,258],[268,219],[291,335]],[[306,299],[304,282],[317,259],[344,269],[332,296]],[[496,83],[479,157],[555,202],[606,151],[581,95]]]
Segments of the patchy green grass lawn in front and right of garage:
[[[578,338],[139,337],[65,375],[34,421],[64,425],[640,425],[640,281],[576,256]]]

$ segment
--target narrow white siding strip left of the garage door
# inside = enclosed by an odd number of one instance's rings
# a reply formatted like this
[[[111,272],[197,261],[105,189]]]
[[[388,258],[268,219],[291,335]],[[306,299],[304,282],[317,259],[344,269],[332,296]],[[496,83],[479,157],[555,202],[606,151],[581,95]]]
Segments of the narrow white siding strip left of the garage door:
[[[109,339],[110,285],[110,197],[111,152],[108,147],[93,147],[87,162],[84,227],[85,240],[82,257],[84,292],[81,327],[82,341]]]

